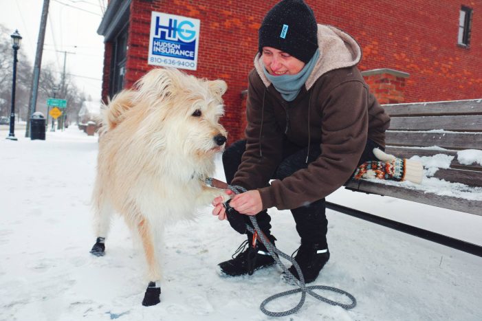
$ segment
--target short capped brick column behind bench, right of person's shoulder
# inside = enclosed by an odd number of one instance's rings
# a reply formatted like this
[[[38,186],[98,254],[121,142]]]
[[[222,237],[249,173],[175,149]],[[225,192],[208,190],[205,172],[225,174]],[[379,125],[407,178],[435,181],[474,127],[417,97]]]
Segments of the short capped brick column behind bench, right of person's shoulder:
[[[410,76],[403,71],[382,68],[362,71],[362,76],[380,104],[404,102],[405,80]]]

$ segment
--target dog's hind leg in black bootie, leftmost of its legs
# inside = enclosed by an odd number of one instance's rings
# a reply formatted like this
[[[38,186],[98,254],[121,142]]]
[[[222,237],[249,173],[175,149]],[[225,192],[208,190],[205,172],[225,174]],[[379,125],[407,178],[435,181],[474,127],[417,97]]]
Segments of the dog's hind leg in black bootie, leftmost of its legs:
[[[90,250],[95,256],[105,254],[105,238],[111,227],[112,208],[106,201],[100,199],[100,195],[94,199],[94,228],[96,230],[96,244]]]

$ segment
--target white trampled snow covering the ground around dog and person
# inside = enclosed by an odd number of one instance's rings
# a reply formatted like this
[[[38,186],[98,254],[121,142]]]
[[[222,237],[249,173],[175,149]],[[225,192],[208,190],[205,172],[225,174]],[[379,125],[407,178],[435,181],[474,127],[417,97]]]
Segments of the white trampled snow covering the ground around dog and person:
[[[278,267],[219,276],[217,263],[230,258],[243,236],[210,208],[166,231],[162,302],[142,307],[143,256],[120,219],[107,254],[89,254],[96,153],[97,137],[74,126],[47,132],[46,141],[0,140],[0,320],[482,320],[482,258],[331,210],[331,259],[314,284],[353,294],[354,309],[308,296],[292,316],[265,316],[259,304],[292,286]],[[329,201],[482,245],[476,215],[344,189]],[[291,254],[299,242],[293,219],[287,211],[271,214],[276,245]],[[267,308],[290,309],[298,298]]]

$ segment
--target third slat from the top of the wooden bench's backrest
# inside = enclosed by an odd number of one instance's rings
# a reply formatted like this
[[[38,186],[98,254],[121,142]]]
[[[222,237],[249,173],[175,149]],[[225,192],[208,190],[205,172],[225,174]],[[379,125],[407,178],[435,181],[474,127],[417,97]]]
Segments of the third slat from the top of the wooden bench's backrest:
[[[463,150],[482,149],[482,133],[420,133],[410,131],[386,131],[387,145],[439,146]]]

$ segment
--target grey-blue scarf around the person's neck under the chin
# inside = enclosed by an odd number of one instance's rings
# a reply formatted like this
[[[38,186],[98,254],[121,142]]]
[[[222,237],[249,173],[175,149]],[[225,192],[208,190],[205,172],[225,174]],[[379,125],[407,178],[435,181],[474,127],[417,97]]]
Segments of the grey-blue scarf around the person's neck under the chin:
[[[315,54],[308,63],[301,69],[296,75],[283,75],[283,76],[272,76],[267,72],[266,67],[263,67],[265,76],[270,82],[272,82],[274,88],[281,93],[284,100],[292,102],[301,90],[301,87],[305,85],[311,71],[315,67],[316,61],[320,56],[320,52],[316,49]]]

